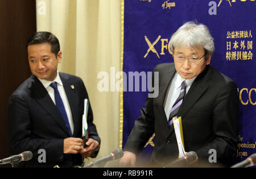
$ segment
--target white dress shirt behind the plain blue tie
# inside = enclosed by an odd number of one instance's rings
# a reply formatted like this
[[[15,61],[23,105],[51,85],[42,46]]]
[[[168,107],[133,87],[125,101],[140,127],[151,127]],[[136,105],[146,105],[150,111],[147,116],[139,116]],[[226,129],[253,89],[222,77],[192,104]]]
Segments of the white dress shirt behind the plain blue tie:
[[[57,82],[57,88],[59,90],[60,97],[63,101],[64,107],[65,107],[65,110],[66,110],[66,113],[67,113],[67,116],[68,116],[69,126],[71,127],[71,131],[72,131],[72,134],[73,134],[73,132],[74,132],[74,123],[73,123],[72,113],[71,113],[71,109],[70,109],[70,106],[69,106],[67,94],[65,92],[63,83],[60,80],[59,71],[57,72],[57,77],[53,81],[42,80],[42,79],[39,79],[39,78],[38,78],[38,80],[40,82],[42,82],[44,88],[46,88],[46,90],[48,91],[48,94],[52,98],[52,101],[55,105],[56,105],[56,103],[55,103],[54,89],[49,85],[51,85],[52,82]]]

